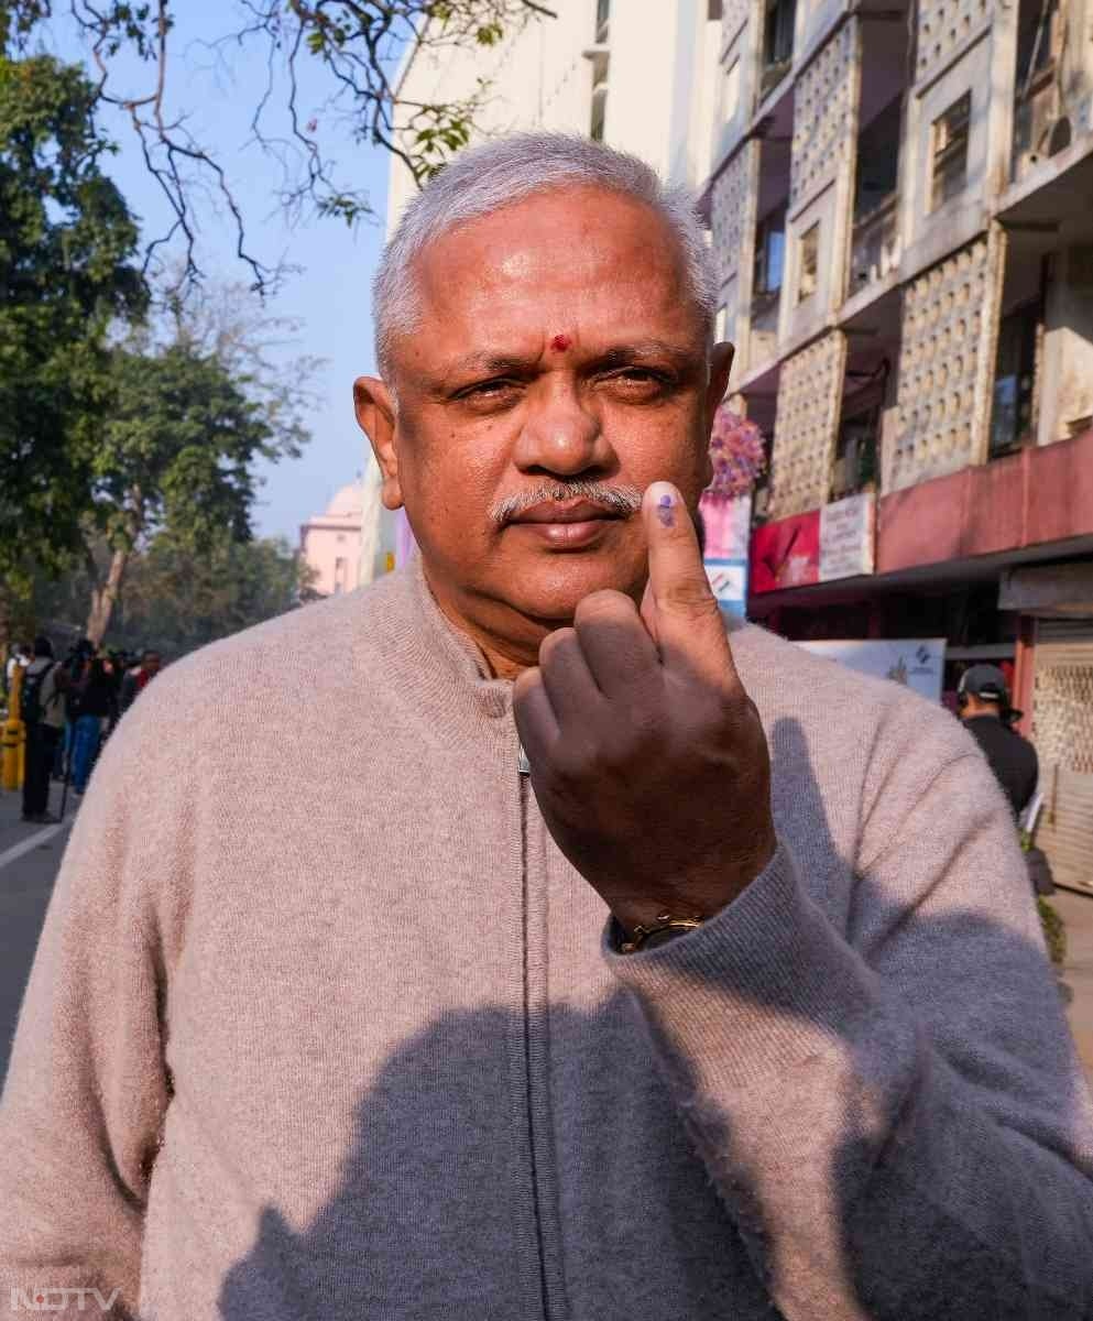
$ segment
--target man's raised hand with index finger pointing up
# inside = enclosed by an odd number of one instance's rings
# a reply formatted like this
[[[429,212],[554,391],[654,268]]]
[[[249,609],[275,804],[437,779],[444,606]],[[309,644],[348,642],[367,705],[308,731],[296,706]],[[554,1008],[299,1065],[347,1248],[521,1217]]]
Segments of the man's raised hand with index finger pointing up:
[[[770,757],[675,486],[642,518],[640,612],[594,592],[516,680],[536,801],[558,848],[632,930],[665,911],[709,917],[775,851]]]

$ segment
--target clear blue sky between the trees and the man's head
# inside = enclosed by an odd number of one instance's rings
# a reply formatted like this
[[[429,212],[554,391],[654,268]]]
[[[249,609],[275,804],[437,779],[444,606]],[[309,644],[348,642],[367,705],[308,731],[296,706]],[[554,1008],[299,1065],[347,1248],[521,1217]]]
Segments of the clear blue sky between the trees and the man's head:
[[[300,98],[301,118],[318,118],[339,173],[367,192],[376,217],[355,231],[342,221],[319,218],[293,227],[277,198],[281,166],[259,147],[247,145],[251,115],[268,79],[264,52],[210,45],[243,25],[236,0],[183,0],[177,11],[181,21],[172,34],[176,54],[168,73],[169,108],[187,112],[191,133],[214,149],[224,166],[247,218],[249,247],[267,264],[284,259],[301,268],[268,304],[269,313],[300,321],[294,343],[277,351],[284,369],[290,370],[293,358],[302,355],[325,359],[313,380],[318,403],[309,417],[312,441],[304,456],[257,468],[264,485],[253,511],[255,532],[284,535],[294,544],[300,524],[321,513],[364,465],[367,443],[352,416],[351,387],[355,376],[375,370],[370,288],[383,246],[389,157],[380,148],[352,141],[345,111],[325,104],[330,82],[310,77]],[[73,28],[59,17],[48,44],[66,58],[84,55]],[[148,67],[127,63],[123,73],[127,92],[147,87]],[[318,61],[314,73],[321,74]],[[120,149],[107,170],[140,218],[143,236],[160,236],[169,229],[170,213],[145,170],[136,135],[124,115],[110,107],[100,123]],[[199,260],[210,281],[248,281],[248,268],[234,256],[235,236],[224,215],[203,205],[199,219]]]

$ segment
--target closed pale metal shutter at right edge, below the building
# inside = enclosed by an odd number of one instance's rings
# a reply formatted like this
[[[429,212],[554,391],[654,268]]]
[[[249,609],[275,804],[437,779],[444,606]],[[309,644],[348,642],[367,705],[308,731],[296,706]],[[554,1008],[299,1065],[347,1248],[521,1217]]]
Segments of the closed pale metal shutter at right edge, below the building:
[[[1044,795],[1036,843],[1059,885],[1093,894],[1093,621],[1040,621],[1032,742]]]

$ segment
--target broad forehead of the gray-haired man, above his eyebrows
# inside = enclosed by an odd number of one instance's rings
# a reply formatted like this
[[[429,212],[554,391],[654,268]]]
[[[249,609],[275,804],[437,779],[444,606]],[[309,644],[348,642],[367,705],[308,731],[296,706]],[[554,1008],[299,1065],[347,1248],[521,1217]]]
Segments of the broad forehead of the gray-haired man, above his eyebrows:
[[[702,333],[668,222],[599,188],[533,194],[469,221],[430,243],[412,273],[426,330],[411,337],[414,357],[558,330],[586,342]]]

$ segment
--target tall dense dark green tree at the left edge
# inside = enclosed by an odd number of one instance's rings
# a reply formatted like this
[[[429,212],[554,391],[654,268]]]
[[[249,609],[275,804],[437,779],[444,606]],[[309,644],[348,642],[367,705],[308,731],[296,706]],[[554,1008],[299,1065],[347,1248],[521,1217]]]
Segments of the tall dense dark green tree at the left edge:
[[[96,91],[0,55],[0,579],[79,544],[111,392],[107,332],[147,304],[137,227],[102,172]]]

